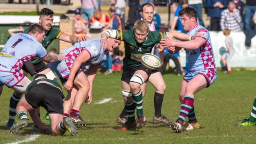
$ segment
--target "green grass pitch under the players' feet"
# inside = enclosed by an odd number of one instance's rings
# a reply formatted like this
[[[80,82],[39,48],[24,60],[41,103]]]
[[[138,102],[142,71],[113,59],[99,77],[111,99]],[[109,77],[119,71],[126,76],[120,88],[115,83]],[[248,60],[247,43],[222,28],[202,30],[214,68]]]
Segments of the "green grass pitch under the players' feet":
[[[124,102],[120,87],[120,73],[97,75],[93,87],[92,104],[83,104],[80,115],[90,122],[88,126],[78,127],[79,136],[72,137],[68,132],[64,136],[32,135],[32,121],[28,127],[13,135],[5,129],[8,120],[9,100],[13,90],[4,87],[0,105],[0,143],[27,142],[28,144],[80,144],[80,143],[182,143],[191,144],[254,144],[255,126],[238,127],[236,122],[248,118],[252,103],[256,96],[254,71],[233,71],[223,74],[218,71],[217,80],[209,88],[195,94],[195,113],[202,128],[179,134],[170,130],[169,125],[153,124],[154,115],[154,87],[148,83],[146,96],[143,101],[144,114],[148,120],[146,127],[137,131],[119,131],[121,126],[116,123],[116,117],[122,111]],[[162,113],[173,119],[178,117],[180,101],[178,93],[182,76],[165,74],[164,80],[167,90],[164,96]],[[66,95],[66,92],[65,92]],[[112,98],[109,102],[95,104]],[[46,111],[41,108],[43,122]],[[16,118],[16,121],[18,118]]]

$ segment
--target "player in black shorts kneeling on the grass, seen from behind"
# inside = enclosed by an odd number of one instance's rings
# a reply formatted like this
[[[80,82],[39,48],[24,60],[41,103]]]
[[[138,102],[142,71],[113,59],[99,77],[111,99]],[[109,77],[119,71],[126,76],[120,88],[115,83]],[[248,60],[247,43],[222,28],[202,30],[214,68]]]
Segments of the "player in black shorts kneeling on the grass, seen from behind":
[[[28,85],[25,96],[17,105],[16,114],[20,122],[10,128],[10,133],[16,134],[28,125],[29,112],[36,126],[45,134],[51,131],[53,135],[63,135],[68,130],[72,136],[77,136],[78,129],[72,120],[63,119],[63,99],[62,88],[58,82],[47,79],[44,74],[36,74],[34,81]],[[50,116],[51,130],[41,122],[36,113],[36,108],[40,106],[45,108]]]

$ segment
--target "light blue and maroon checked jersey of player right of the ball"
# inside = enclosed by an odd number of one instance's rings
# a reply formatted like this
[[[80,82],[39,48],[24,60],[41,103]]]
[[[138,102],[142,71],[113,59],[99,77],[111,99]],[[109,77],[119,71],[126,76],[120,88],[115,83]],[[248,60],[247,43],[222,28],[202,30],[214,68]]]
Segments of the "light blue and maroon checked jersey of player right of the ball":
[[[190,69],[208,69],[216,71],[215,57],[209,31],[203,26],[196,24],[192,28],[192,30],[182,32],[190,36],[194,36],[194,34],[199,32],[201,34],[200,37],[206,40],[206,43],[200,46],[200,48],[197,48],[195,50],[185,49],[186,54],[188,56]]]

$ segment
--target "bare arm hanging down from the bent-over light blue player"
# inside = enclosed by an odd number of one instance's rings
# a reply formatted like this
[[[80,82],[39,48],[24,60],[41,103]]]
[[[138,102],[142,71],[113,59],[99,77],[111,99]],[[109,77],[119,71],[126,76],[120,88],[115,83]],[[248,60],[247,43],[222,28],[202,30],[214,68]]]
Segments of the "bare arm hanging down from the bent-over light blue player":
[[[87,50],[83,50],[78,57],[74,60],[74,63],[70,69],[70,74],[69,74],[69,78],[68,80],[71,80],[73,82],[74,78],[75,78],[75,74],[78,71],[78,69],[80,68],[81,64],[83,62],[86,62],[87,60],[89,60],[91,58],[89,52]]]

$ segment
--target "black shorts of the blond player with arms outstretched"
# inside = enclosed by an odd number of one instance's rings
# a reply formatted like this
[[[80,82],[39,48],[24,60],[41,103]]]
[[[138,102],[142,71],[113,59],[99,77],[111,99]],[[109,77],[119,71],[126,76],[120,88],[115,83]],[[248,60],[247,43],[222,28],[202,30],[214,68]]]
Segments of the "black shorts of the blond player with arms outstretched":
[[[127,82],[129,83],[132,76],[134,75],[134,73],[137,71],[137,70],[143,70],[144,72],[147,73],[148,75],[148,78],[151,74],[154,74],[156,72],[159,72],[159,70],[150,70],[148,68],[146,68],[144,65],[141,65],[141,66],[138,66],[138,67],[135,67],[135,68],[128,68],[128,67],[123,67],[123,73],[122,73],[122,77],[121,77],[121,80],[124,81],[124,82]],[[147,80],[145,80],[146,82]]]

